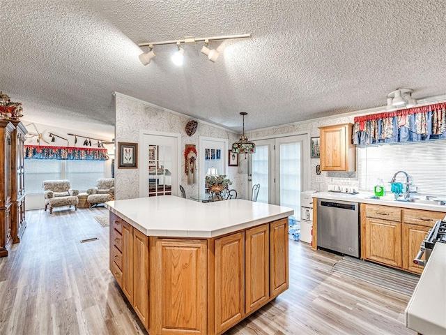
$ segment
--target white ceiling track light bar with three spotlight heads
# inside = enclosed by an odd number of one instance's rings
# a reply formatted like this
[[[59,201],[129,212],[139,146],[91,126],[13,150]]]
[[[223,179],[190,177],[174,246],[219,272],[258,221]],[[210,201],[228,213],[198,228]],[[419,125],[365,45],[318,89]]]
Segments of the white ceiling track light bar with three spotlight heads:
[[[189,43],[197,43],[204,42],[205,45],[201,48],[201,52],[208,56],[208,59],[215,63],[217,61],[220,52],[215,49],[209,49],[208,44],[211,40],[232,40],[235,38],[250,38],[251,34],[241,34],[241,35],[227,35],[227,36],[214,36],[214,37],[203,37],[203,38],[194,38],[194,37],[185,37],[183,40],[164,40],[162,42],[149,42],[149,43],[139,43],[139,47],[149,47],[150,51],[147,53],[143,53],[139,55],[139,60],[143,65],[148,65],[151,62],[151,59],[155,57],[155,52],[153,52],[154,45],[168,45],[168,44],[176,44],[178,46],[178,52],[172,56],[172,61],[177,65],[183,64],[183,54],[184,49],[181,47],[181,43],[189,44]],[[180,61],[181,59],[181,61]]]

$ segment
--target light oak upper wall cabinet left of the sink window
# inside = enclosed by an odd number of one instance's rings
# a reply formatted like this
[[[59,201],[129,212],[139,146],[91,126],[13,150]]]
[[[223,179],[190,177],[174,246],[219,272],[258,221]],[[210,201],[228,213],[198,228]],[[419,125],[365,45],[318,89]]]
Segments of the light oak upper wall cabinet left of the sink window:
[[[353,124],[320,127],[321,170],[355,171],[356,151],[352,141]]]

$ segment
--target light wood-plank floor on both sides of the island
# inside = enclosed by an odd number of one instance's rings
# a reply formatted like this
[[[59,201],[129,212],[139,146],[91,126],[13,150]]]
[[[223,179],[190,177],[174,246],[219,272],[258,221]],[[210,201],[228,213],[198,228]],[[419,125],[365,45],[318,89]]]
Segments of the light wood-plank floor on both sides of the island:
[[[61,208],[26,211],[0,258],[0,334],[147,334],[109,271],[109,228],[93,219],[107,209]],[[416,334],[408,296],[334,273],[339,259],[290,241],[289,290],[226,334]]]

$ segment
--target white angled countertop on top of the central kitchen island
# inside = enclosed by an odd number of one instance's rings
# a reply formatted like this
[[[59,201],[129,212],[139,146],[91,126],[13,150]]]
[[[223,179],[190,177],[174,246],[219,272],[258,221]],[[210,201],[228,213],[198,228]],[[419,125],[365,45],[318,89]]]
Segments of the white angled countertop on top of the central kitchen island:
[[[163,237],[217,237],[293,214],[291,208],[262,202],[203,203],[174,195],[114,200],[105,206],[147,236]]]

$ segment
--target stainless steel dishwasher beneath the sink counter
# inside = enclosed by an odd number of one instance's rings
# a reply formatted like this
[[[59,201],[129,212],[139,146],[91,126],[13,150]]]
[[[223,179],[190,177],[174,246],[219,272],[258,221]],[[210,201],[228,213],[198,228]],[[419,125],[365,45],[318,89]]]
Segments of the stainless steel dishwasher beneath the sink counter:
[[[357,202],[317,200],[317,246],[360,257],[360,207]]]

